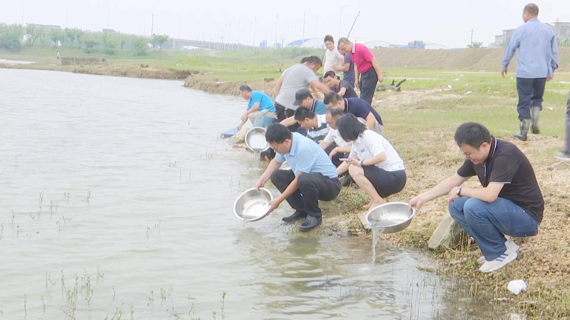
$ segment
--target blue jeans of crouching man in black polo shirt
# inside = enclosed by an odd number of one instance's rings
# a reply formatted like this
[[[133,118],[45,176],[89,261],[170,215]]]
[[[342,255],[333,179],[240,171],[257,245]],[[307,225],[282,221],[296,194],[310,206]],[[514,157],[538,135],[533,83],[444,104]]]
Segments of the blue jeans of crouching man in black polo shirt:
[[[488,203],[466,196],[449,204],[449,214],[479,244],[487,261],[506,251],[505,235],[535,236],[539,223],[511,200],[497,198]]]

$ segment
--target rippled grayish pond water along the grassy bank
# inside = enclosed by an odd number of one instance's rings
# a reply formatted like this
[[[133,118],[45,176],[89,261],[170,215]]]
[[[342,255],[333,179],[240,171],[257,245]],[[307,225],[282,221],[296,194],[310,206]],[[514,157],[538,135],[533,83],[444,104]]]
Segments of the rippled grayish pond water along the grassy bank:
[[[326,210],[308,233],[280,221],[292,212],[286,203],[242,225],[233,202],[263,164],[219,138],[239,124],[241,97],[180,81],[16,69],[0,69],[0,91],[5,319],[491,312],[422,271],[422,253],[380,241],[372,268],[370,239],[339,235]]]

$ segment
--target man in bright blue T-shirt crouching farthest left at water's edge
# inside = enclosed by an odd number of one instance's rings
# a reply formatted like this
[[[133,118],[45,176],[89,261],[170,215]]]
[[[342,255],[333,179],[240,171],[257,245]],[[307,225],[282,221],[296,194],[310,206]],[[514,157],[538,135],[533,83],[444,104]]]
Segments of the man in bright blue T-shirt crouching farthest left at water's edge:
[[[242,114],[242,122],[239,124],[238,130],[242,129],[242,126],[247,122],[247,119],[249,119],[251,124],[255,126],[256,119],[260,117],[267,117],[270,119],[277,118],[275,114],[275,106],[268,95],[261,91],[252,91],[249,85],[246,84],[239,87],[239,92],[243,99],[249,100],[249,102],[247,102],[246,112]],[[260,122],[257,121],[257,123]]]

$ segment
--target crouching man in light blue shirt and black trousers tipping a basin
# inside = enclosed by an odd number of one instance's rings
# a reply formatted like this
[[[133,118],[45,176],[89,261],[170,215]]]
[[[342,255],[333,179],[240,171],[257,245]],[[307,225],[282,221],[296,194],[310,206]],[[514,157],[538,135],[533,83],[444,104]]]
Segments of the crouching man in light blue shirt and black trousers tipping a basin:
[[[314,229],[323,221],[319,200],[331,201],[339,195],[341,186],[335,166],[314,141],[299,133],[291,133],[282,124],[268,126],[265,139],[275,150],[275,158],[255,182],[255,188],[259,190],[271,179],[281,195],[271,200],[269,212],[287,200],[295,212],[282,220],[304,219],[299,229]],[[279,170],[285,161],[291,170]]]

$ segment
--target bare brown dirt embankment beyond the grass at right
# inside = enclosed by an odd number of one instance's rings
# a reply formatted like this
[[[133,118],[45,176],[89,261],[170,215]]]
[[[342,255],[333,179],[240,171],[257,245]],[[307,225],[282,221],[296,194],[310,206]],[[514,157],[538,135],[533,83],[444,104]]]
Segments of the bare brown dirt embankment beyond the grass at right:
[[[372,53],[384,68],[407,66],[410,68],[499,71],[504,48],[463,50],[380,48],[372,50]],[[558,64],[558,71],[570,71],[570,48],[559,49]],[[511,72],[515,71],[516,56],[511,60],[509,69]]]

